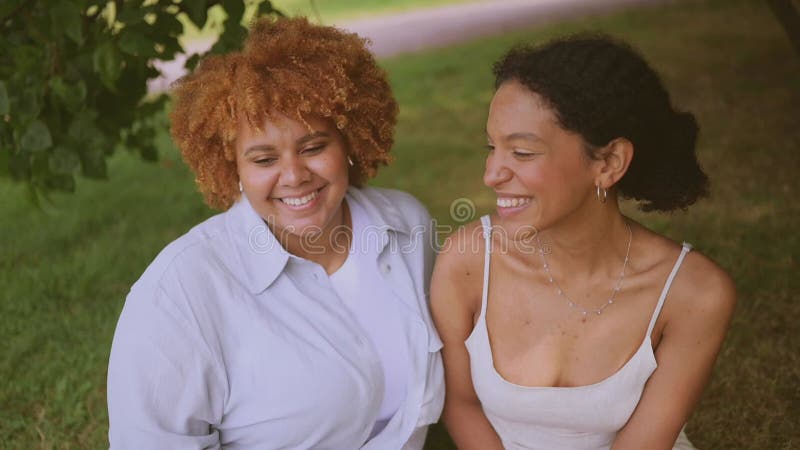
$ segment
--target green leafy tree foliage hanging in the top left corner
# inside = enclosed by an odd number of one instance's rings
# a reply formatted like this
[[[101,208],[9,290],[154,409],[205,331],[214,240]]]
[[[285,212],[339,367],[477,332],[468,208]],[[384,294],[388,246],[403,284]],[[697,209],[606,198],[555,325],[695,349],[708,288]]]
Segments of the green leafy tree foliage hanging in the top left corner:
[[[214,53],[241,44],[245,10],[281,15],[268,0],[2,0],[0,177],[38,200],[74,191],[78,173],[106,178],[118,144],[157,159],[166,96],[148,95],[153,63],[183,52],[184,24],[202,29],[212,7],[226,16]]]

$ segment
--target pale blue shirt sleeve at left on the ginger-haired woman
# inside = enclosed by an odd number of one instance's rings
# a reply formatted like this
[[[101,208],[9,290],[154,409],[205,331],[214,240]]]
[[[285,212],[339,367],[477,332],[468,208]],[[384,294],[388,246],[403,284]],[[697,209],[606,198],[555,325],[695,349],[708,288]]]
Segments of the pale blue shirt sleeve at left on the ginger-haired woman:
[[[191,308],[132,290],[109,359],[110,448],[219,449],[225,386]]]

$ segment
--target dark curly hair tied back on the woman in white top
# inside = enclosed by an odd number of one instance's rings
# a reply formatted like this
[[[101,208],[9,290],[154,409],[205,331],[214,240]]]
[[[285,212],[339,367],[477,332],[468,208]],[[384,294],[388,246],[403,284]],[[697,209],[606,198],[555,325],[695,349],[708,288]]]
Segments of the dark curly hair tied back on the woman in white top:
[[[519,45],[494,65],[495,87],[515,80],[540,95],[587,154],[616,138],[634,147],[619,193],[644,211],[685,209],[708,193],[695,155],[698,125],[676,111],[655,71],[631,46],[578,34],[542,46]]]

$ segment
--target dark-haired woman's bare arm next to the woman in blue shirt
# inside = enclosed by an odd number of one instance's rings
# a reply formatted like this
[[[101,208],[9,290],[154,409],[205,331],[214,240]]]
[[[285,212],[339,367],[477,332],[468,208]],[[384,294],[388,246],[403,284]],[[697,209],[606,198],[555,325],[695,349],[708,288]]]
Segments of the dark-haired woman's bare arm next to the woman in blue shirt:
[[[479,226],[479,225],[478,225]],[[471,231],[471,230],[468,230]],[[431,281],[431,311],[444,347],[445,404],[443,418],[459,449],[502,449],[503,445],[481,408],[470,374],[464,341],[480,311],[483,285],[483,249],[458,245],[473,233],[458,233],[445,243]],[[461,249],[461,250],[459,250]],[[466,249],[466,253],[464,251]]]

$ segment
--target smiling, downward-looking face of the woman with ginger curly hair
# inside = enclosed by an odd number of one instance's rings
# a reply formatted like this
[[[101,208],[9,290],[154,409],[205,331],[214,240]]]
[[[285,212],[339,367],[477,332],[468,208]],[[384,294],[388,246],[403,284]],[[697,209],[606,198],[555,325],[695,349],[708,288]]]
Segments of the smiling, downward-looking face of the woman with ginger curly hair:
[[[256,130],[242,122],[236,166],[244,193],[273,234],[317,235],[344,224],[348,187],[344,139],[330,121],[274,113]]]

